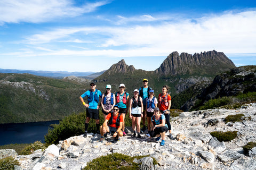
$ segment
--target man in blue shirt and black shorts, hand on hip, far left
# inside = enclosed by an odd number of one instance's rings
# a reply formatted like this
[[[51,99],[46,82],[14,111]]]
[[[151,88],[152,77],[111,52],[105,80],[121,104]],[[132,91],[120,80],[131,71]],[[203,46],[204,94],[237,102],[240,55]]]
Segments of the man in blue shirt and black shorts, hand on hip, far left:
[[[91,89],[85,91],[85,93],[79,97],[83,105],[86,107],[86,120],[85,120],[85,132],[84,132],[85,138],[87,137],[87,129],[88,129],[91,118],[95,120],[97,133],[100,134],[99,97],[102,98],[102,94],[100,90],[96,89],[96,85],[94,83],[91,83],[90,86],[91,86]],[[86,96],[88,97],[87,98],[88,104],[86,104],[83,99]]]

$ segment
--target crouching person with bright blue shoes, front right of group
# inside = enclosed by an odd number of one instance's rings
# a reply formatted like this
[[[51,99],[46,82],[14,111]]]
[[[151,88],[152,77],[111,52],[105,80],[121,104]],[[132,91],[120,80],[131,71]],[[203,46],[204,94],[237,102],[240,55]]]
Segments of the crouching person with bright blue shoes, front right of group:
[[[168,131],[168,126],[165,124],[165,116],[160,113],[159,108],[154,108],[154,115],[151,117],[151,132],[150,138],[156,138],[156,141],[162,138],[161,146],[165,143],[165,133]]]

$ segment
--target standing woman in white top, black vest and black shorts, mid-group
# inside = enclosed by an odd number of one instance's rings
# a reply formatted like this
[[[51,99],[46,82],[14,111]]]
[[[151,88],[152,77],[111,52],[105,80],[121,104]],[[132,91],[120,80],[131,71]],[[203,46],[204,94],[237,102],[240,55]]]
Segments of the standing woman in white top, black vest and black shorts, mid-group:
[[[133,91],[133,97],[130,100],[130,118],[132,119],[132,130],[133,130],[133,137],[136,136],[136,131],[138,133],[138,138],[141,138],[140,135],[140,121],[141,117],[143,117],[143,103],[142,103],[142,98],[139,97],[139,90],[135,89]]]

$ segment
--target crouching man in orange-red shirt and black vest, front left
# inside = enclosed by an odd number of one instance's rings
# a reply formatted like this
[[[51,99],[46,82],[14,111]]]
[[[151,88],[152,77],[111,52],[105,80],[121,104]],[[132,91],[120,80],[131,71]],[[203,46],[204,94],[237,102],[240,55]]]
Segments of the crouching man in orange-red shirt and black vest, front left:
[[[120,140],[119,137],[123,136],[123,115],[118,113],[119,107],[115,105],[113,107],[113,113],[109,113],[104,121],[103,125],[100,126],[100,142],[103,142],[107,133],[113,134],[115,141]]]

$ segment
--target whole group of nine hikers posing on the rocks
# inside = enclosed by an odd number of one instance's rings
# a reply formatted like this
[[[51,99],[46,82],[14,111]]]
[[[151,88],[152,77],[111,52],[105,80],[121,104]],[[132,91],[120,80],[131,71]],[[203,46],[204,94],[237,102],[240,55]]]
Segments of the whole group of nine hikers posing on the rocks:
[[[133,137],[136,137],[137,134],[137,138],[141,138],[141,130],[143,132],[148,130],[147,137],[156,137],[157,141],[162,138],[160,145],[163,146],[165,144],[165,133],[169,131],[169,135],[171,134],[171,96],[167,93],[168,87],[163,86],[162,93],[156,98],[154,90],[148,86],[148,79],[143,79],[142,83],[143,86],[140,89],[133,90],[133,97],[130,98],[129,93],[125,91],[124,84],[119,85],[119,91],[116,94],[111,92],[111,85],[107,84],[106,92],[102,94],[100,90],[96,89],[95,83],[92,82],[90,84],[91,89],[79,97],[86,107],[84,137],[87,137],[89,121],[93,118],[97,133],[101,134],[101,142],[106,138],[107,133],[113,134],[115,140],[118,141],[120,137],[127,135],[124,131],[124,119],[129,111]],[[87,104],[84,101],[85,97],[87,97]],[[101,103],[99,98],[101,98]],[[100,126],[99,120],[100,106],[105,119],[102,126]],[[141,118],[142,129],[140,128]]]

